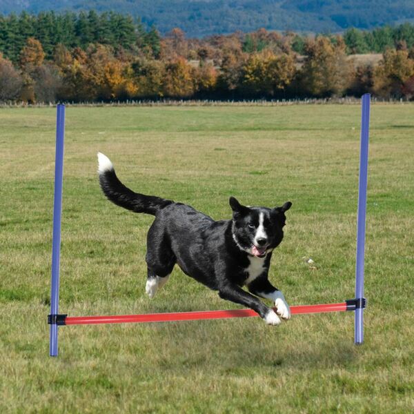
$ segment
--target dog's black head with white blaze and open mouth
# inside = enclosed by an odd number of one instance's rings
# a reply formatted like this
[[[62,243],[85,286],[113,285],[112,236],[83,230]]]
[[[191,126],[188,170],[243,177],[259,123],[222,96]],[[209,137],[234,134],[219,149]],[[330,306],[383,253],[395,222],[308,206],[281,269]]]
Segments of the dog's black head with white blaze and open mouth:
[[[230,197],[233,210],[233,238],[237,246],[249,255],[265,257],[282,242],[285,212],[292,206],[288,201],[282,207],[250,207]]]

